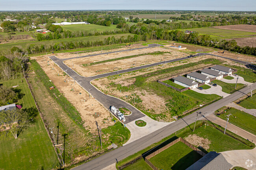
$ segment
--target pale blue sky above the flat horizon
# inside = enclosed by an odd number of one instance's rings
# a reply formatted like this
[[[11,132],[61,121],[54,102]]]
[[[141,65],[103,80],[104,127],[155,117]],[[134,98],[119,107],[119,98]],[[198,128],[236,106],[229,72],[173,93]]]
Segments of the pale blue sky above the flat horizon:
[[[256,11],[256,0],[0,0],[0,11],[97,9]]]

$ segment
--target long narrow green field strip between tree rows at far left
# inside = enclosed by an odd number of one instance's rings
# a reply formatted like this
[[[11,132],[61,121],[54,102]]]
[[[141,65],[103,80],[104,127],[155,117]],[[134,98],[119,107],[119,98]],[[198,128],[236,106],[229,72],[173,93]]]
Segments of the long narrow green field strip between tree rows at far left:
[[[115,35],[100,35],[100,36],[90,36],[90,37],[77,37],[77,38],[66,38],[66,39],[58,39],[58,40],[45,40],[45,41],[33,41],[32,42],[17,42],[17,43],[9,43],[9,44],[0,44],[1,50],[11,49],[13,46],[20,46],[22,48],[26,48],[30,44],[35,44],[37,46],[41,46],[41,44],[55,44],[56,42],[74,42],[74,41],[96,41],[96,40],[104,40],[104,38],[115,37],[120,38],[122,36],[127,37],[128,35],[132,35],[130,33],[127,34],[115,34]]]

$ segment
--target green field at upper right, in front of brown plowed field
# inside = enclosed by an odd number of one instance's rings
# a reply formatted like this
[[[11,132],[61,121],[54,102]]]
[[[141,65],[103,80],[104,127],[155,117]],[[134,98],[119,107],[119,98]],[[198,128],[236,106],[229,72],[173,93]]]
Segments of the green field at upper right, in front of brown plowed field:
[[[179,29],[180,31],[184,31],[184,29]],[[253,32],[247,31],[235,31],[235,30],[226,30],[226,29],[218,29],[218,28],[210,28],[210,27],[203,27],[203,28],[189,28],[186,29],[189,31],[197,31],[199,35],[210,35],[211,38],[239,38],[239,37],[250,37],[251,35],[256,35]]]

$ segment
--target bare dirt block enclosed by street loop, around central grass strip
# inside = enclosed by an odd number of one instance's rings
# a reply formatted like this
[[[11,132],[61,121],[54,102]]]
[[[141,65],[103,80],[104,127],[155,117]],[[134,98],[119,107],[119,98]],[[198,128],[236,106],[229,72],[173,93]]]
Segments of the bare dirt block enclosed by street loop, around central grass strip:
[[[165,53],[163,55],[143,55],[139,57],[126,58],[123,60],[116,60],[112,62],[95,64],[91,66],[82,65],[82,64],[88,64],[88,63],[102,61],[102,60],[108,60],[111,58],[120,58],[120,57],[126,57],[131,55],[143,54],[143,53],[152,53],[155,51],[171,52],[171,54]],[[93,76],[93,75],[98,75],[106,72],[111,72],[114,70],[117,71],[118,69],[127,69],[131,67],[135,67],[135,65],[140,66],[144,64],[170,60],[173,58],[180,58],[184,55],[187,55],[187,54],[179,51],[175,51],[172,49],[148,48],[148,49],[141,49],[141,50],[137,49],[137,50],[128,51],[128,52],[113,53],[109,55],[99,55],[99,56],[85,57],[85,58],[78,58],[78,59],[76,58],[72,60],[66,60],[64,61],[64,63],[67,64],[70,68],[73,68],[73,64],[74,64],[74,70],[78,72],[80,75]]]

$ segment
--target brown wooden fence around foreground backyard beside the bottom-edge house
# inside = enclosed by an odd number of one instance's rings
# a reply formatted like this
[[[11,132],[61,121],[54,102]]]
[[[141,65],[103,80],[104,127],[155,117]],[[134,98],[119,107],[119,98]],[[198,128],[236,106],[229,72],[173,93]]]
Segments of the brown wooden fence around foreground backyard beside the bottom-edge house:
[[[184,144],[186,144],[189,148],[195,150],[195,152],[197,152],[198,154],[204,156],[206,155],[204,152],[202,152],[200,149],[198,149],[197,147],[193,146],[191,143],[187,142],[185,139],[183,139],[182,137],[179,137],[178,139],[174,140],[173,142],[163,146],[163,148],[160,148],[159,150],[156,150],[155,152],[153,152],[152,154],[148,155],[145,157],[145,162],[153,169],[153,170],[159,170],[158,168],[156,168],[156,166],[154,166],[148,159],[154,157],[155,155],[159,154],[160,152],[163,152],[164,150],[166,150],[167,148],[169,148],[170,146],[173,146],[175,143],[177,142],[182,142]]]

